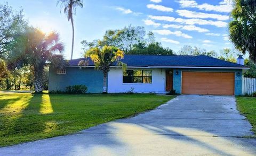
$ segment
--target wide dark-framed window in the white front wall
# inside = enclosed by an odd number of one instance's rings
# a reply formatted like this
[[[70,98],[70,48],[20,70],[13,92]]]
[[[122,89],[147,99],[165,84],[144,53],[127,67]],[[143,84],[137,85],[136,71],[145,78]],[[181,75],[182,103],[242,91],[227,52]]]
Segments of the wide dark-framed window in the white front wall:
[[[123,83],[152,83],[152,71],[127,70],[123,72]]]

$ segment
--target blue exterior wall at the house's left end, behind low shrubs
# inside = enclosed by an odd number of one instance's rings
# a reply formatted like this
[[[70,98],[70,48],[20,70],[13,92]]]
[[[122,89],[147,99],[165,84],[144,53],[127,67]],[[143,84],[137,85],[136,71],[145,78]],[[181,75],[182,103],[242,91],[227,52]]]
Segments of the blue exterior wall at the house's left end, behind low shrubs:
[[[56,69],[49,70],[49,91],[64,91],[69,85],[86,85],[88,93],[101,93],[103,89],[102,71],[93,67],[67,67],[66,74],[56,74]]]

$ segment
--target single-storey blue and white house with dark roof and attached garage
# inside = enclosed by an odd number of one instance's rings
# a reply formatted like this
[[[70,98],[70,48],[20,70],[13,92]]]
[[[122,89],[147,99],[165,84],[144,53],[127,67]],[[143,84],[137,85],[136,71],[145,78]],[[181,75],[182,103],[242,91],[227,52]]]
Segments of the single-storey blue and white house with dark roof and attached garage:
[[[89,65],[79,69],[80,59],[69,60],[63,70],[50,68],[49,91],[63,90],[68,85],[84,84],[90,93],[102,92],[102,71]],[[249,69],[241,64],[209,56],[125,55],[127,70],[113,64],[108,73],[109,93],[138,92],[181,94],[242,94],[242,75]]]

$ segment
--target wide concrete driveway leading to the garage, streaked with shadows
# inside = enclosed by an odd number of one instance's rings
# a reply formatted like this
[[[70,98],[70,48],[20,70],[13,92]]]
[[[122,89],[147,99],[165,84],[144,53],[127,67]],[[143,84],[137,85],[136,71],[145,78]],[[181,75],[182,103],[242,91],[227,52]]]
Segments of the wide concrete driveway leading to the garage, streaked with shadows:
[[[0,148],[0,155],[256,155],[235,97],[179,96],[155,110],[74,135]]]

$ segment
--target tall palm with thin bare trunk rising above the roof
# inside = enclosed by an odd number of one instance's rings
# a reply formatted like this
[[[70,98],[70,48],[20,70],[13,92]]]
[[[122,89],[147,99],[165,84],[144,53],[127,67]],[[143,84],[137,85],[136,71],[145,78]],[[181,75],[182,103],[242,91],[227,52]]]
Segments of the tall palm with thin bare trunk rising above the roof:
[[[74,37],[75,37],[75,29],[74,29],[74,18],[73,15],[76,14],[76,7],[80,6],[83,7],[82,0],[59,0],[58,3],[60,4],[60,10],[64,8],[64,13],[67,15],[68,21],[71,21],[72,25],[72,49],[71,49],[71,58],[73,58],[73,50],[74,50]]]

